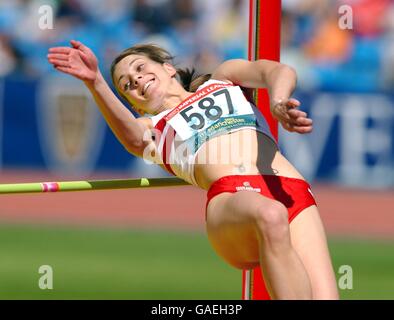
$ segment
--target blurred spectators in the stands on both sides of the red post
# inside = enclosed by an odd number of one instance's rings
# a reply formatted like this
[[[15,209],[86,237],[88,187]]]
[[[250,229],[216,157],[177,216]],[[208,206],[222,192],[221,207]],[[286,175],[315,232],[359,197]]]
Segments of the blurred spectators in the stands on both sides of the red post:
[[[136,42],[168,49],[179,64],[209,72],[246,58],[249,0],[0,0],[0,77],[54,72],[47,50],[77,39],[108,71]],[[53,10],[53,28],[40,29]],[[341,29],[341,6],[352,29]],[[296,68],[304,90],[394,88],[393,0],[282,0],[282,61]],[[41,12],[41,13],[40,13]],[[46,21],[50,22],[50,21]]]

